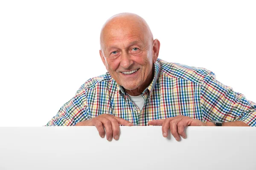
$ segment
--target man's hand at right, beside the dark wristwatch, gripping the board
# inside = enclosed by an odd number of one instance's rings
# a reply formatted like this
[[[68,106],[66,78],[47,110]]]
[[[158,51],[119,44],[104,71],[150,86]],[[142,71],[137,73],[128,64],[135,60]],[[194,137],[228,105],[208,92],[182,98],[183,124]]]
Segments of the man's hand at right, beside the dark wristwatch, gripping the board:
[[[163,137],[168,136],[168,130],[171,129],[172,135],[177,141],[180,140],[180,136],[184,139],[186,138],[186,133],[184,128],[187,126],[206,126],[205,123],[198,119],[192,119],[188,116],[175,116],[167,119],[159,119],[148,121],[148,125],[162,126]]]

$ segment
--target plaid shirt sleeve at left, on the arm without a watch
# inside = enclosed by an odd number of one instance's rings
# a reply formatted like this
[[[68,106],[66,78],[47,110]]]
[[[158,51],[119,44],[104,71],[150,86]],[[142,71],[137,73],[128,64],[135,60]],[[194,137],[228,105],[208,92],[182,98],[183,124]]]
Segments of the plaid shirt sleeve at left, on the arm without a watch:
[[[87,111],[87,88],[82,85],[76,95],[60,108],[46,126],[73,126],[87,119],[90,119]]]

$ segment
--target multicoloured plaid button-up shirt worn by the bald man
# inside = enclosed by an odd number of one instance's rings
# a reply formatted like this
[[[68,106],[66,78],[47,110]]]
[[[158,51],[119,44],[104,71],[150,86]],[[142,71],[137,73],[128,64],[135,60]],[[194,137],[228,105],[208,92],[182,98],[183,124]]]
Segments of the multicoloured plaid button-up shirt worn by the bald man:
[[[142,96],[145,104],[140,111],[125,90],[106,73],[87,80],[47,126],[71,126],[103,113],[138,126],[178,115],[202,122],[243,121],[256,126],[256,104],[218,82],[215,74],[205,68],[157,59],[154,79]]]

